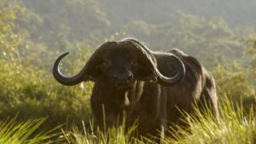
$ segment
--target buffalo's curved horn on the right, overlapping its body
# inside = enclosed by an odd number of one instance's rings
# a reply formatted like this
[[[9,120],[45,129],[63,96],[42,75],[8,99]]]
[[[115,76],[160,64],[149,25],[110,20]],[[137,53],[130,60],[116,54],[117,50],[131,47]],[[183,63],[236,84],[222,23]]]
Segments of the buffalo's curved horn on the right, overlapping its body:
[[[177,72],[177,74],[172,77],[172,78],[168,78],[164,75],[162,75],[157,66],[156,66],[156,61],[153,60],[154,58],[154,52],[151,51],[150,49],[148,49],[145,45],[143,45],[143,43],[138,42],[136,39],[133,38],[129,38],[129,39],[125,39],[127,41],[130,41],[131,43],[135,44],[137,46],[137,48],[139,48],[141,50],[141,52],[143,53],[143,55],[146,56],[147,60],[149,60],[150,64],[152,65],[152,68],[154,69],[155,75],[157,76],[157,80],[160,84],[166,85],[166,86],[170,86],[173,84],[177,84],[178,82],[180,82],[184,76],[185,76],[185,66],[182,62],[182,60],[180,60],[177,56],[175,55],[170,55],[173,56],[173,58],[175,58],[175,60],[177,60],[177,64],[179,66],[179,71]]]

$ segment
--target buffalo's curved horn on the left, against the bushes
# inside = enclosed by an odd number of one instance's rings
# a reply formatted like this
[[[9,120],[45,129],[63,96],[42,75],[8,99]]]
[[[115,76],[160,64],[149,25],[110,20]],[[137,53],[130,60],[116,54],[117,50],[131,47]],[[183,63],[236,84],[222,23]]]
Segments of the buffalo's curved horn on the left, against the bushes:
[[[79,84],[82,81],[86,80],[94,80],[94,76],[90,75],[90,72],[93,71],[93,67],[96,66],[97,63],[99,63],[100,60],[102,60],[102,52],[108,49],[111,49],[110,46],[114,42],[107,42],[102,44],[102,46],[99,49],[96,49],[93,55],[90,56],[90,59],[87,61],[83,69],[73,77],[66,77],[64,76],[59,69],[59,63],[63,57],[68,55],[69,53],[62,54],[55,60],[54,66],[53,66],[53,75],[55,79],[64,85],[74,85]]]

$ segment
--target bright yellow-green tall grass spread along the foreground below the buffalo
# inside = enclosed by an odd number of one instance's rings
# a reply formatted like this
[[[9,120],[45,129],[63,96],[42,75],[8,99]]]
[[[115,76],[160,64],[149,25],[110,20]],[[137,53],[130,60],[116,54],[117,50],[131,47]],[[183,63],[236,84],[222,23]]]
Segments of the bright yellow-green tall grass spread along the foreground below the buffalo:
[[[225,97],[219,101],[219,117],[215,118],[209,110],[203,115],[196,109],[194,116],[187,115],[186,122],[189,130],[176,126],[173,137],[163,136],[161,143],[173,144],[254,144],[256,143],[255,112],[251,107],[245,112],[241,104],[234,104]],[[184,113],[186,114],[186,113]],[[132,138],[136,126],[125,134],[125,125],[106,131],[93,129],[93,124],[82,127],[73,126],[71,130],[61,128],[44,131],[39,129],[46,118],[18,121],[16,118],[0,121],[1,144],[38,144],[38,143],[67,143],[67,144],[144,144],[154,143],[149,139]],[[86,126],[85,126],[86,125]],[[82,129],[81,129],[82,128]],[[170,128],[173,129],[173,128]],[[62,131],[62,132],[61,132]]]

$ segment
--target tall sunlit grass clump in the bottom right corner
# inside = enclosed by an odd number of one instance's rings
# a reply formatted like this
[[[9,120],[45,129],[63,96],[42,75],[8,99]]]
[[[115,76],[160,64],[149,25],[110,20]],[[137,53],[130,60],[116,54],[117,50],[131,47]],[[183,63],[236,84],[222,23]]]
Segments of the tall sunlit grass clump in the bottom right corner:
[[[253,107],[244,112],[243,106],[234,104],[227,97],[219,101],[219,117],[208,112],[189,116],[189,132],[178,128],[176,140],[166,138],[165,143],[191,144],[253,144],[256,143],[256,121]]]

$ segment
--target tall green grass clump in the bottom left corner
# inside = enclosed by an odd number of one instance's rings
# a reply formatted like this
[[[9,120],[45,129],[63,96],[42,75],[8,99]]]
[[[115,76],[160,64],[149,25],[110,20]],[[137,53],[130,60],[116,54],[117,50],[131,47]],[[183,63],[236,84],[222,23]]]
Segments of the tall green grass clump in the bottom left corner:
[[[45,118],[16,122],[16,118],[0,121],[0,143],[1,144],[49,144],[58,133],[54,130],[36,132],[43,124]],[[36,133],[35,133],[36,132]]]

